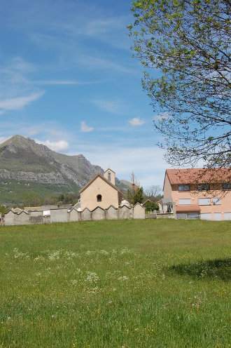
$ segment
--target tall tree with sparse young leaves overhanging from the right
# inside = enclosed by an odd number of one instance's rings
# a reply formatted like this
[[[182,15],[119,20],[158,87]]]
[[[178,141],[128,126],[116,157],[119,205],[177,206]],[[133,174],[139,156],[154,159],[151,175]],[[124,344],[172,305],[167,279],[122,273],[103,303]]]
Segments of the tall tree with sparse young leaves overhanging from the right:
[[[230,166],[230,1],[137,0],[134,55],[174,166]],[[148,71],[153,69],[153,77]]]

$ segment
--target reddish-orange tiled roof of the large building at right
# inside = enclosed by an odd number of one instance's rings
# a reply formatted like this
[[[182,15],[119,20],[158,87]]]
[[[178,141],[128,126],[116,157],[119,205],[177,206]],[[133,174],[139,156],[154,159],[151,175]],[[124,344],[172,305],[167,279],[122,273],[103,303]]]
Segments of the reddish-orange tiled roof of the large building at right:
[[[167,169],[166,175],[172,185],[198,182],[230,182],[231,168],[186,168]]]

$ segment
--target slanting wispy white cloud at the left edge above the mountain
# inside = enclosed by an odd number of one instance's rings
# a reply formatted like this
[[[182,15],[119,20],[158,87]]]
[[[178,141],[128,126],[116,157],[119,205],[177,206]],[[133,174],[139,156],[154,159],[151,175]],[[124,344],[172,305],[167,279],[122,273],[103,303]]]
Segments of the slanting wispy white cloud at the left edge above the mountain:
[[[7,110],[19,110],[23,109],[26,105],[29,105],[31,102],[34,102],[38,98],[41,98],[45,92],[31,93],[30,95],[17,98],[8,98],[0,100],[0,112]]]

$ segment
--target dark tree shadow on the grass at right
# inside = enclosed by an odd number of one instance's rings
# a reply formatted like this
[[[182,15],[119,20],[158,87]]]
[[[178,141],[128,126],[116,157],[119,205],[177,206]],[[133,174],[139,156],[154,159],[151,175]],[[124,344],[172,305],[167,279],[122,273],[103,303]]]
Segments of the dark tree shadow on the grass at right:
[[[170,269],[181,276],[188,275],[202,279],[216,278],[223,281],[231,280],[231,258],[174,265]]]

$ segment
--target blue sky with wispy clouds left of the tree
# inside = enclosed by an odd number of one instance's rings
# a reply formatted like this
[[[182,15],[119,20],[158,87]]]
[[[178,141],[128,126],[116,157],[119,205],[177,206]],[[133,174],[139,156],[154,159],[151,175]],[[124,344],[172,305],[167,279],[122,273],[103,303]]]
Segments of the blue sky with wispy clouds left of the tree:
[[[0,142],[20,134],[83,154],[120,179],[162,185],[165,168],[126,0],[0,0]]]

